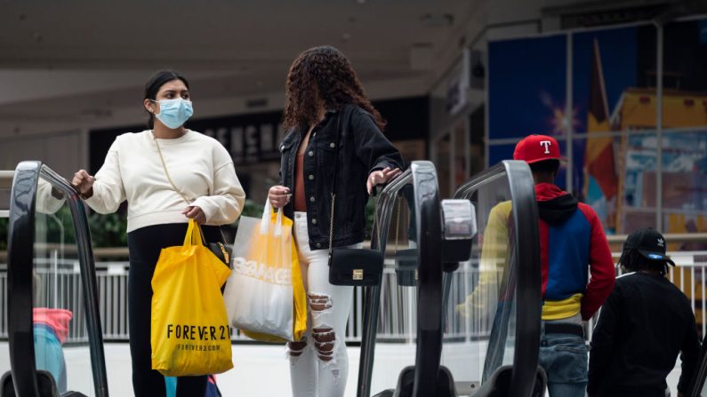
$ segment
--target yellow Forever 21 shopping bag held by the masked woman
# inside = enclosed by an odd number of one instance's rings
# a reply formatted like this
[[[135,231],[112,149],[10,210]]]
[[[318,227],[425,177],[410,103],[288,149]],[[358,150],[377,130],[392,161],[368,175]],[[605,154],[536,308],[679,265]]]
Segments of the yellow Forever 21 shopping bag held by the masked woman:
[[[152,369],[168,377],[233,368],[221,286],[229,267],[204,246],[193,219],[181,247],[160,252],[152,277]]]

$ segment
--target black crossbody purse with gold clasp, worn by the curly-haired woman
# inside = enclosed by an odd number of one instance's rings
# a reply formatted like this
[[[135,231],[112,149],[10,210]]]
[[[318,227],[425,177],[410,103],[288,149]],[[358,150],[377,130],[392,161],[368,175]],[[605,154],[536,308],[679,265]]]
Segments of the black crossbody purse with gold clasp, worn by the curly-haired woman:
[[[332,208],[329,218],[329,283],[333,285],[380,285],[383,275],[383,254],[379,250],[333,248],[333,211],[336,202],[336,173],[339,171],[341,118],[336,128],[336,152],[333,162]],[[375,228],[375,218],[374,218]]]

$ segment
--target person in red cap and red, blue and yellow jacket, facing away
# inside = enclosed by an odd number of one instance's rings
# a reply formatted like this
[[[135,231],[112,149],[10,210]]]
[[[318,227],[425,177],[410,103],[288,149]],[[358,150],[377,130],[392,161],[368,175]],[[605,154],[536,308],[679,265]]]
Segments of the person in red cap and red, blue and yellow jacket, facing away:
[[[540,216],[540,365],[550,397],[583,397],[588,381],[583,322],[597,312],[615,282],[607,236],[589,205],[555,185],[559,164],[566,161],[556,139],[530,135],[518,142],[513,159],[530,166]]]

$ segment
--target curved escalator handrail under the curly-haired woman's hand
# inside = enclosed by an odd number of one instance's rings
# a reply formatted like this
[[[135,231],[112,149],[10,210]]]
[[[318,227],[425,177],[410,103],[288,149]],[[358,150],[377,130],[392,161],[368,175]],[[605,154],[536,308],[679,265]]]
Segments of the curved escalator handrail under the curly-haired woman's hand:
[[[376,224],[372,248],[385,252],[390,218],[395,198],[403,189],[411,188],[413,195],[407,197],[412,204],[411,224],[414,225],[414,241],[418,244],[417,269],[417,332],[414,369],[407,373],[412,381],[406,390],[398,385],[396,393],[401,395],[436,395],[438,387],[439,360],[442,335],[442,253],[441,219],[438,196],[437,171],[434,164],[426,161],[414,162],[389,186],[382,190],[377,203]],[[359,397],[371,395],[374,369],[375,339],[380,313],[381,287],[366,289],[366,311],[364,314],[364,337],[361,344],[361,360],[358,377]],[[405,372],[405,371],[404,371]],[[409,387],[412,385],[412,387]]]

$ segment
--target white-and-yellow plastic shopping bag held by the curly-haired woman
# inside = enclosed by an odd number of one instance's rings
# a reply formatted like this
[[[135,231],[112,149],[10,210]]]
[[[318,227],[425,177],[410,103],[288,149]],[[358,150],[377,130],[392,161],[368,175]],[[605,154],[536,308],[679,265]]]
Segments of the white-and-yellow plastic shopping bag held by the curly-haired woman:
[[[233,273],[223,297],[230,324],[265,342],[301,340],[307,330],[307,297],[292,238],[293,221],[273,213],[241,217],[233,243]]]

